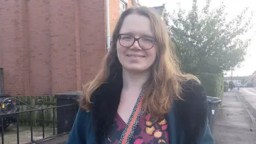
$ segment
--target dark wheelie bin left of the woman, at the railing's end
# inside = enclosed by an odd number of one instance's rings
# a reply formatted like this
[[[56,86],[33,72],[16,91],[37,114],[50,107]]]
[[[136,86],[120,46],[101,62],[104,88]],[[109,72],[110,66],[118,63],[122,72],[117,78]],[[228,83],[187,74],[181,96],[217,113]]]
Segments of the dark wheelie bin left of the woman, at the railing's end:
[[[79,95],[81,95],[80,91],[54,95],[56,106],[76,103],[76,105],[73,106],[57,108],[57,134],[71,131],[78,111],[77,98]]]

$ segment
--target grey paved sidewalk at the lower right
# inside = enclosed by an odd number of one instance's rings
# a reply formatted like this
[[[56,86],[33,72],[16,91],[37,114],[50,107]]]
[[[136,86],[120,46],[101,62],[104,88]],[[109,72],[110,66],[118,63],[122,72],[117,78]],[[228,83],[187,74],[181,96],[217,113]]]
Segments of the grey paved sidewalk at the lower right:
[[[213,137],[216,144],[255,144],[256,126],[235,92],[225,92],[219,110]]]

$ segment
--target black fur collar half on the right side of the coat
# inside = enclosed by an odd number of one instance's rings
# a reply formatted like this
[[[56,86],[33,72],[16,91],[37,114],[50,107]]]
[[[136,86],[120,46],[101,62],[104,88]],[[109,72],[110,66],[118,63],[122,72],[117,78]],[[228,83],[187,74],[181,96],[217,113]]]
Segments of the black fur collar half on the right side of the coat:
[[[183,100],[175,101],[178,122],[183,126],[187,139],[197,141],[207,122],[207,96],[202,84],[189,80],[182,84]]]

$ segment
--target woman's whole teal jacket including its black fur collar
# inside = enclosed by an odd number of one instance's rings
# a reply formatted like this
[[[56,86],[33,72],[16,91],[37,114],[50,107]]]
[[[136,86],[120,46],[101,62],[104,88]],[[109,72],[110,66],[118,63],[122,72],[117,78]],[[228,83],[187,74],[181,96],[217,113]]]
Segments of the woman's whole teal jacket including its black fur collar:
[[[107,80],[92,95],[90,112],[78,110],[66,144],[105,144],[117,113],[122,91],[122,73]],[[207,120],[207,97],[204,87],[188,81],[182,84],[184,100],[174,101],[165,118],[170,144],[214,144]]]

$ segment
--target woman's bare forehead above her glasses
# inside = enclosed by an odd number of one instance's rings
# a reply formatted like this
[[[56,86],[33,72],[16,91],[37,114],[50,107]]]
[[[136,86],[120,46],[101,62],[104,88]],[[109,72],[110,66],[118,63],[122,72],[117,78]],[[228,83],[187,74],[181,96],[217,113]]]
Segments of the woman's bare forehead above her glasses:
[[[138,14],[127,15],[119,33],[134,36],[154,36],[149,19]]]

